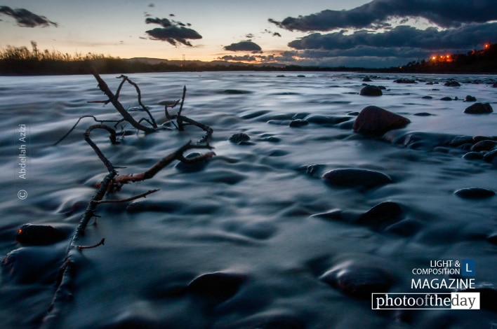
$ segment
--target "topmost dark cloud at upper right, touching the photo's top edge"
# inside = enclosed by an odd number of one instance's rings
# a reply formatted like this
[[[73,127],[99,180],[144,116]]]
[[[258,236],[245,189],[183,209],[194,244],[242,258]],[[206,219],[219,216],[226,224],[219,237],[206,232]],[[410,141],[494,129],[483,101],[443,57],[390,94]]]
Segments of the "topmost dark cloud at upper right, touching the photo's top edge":
[[[350,10],[323,10],[298,18],[270,22],[290,31],[380,28],[392,18],[425,18],[439,27],[497,20],[495,0],[373,0]]]

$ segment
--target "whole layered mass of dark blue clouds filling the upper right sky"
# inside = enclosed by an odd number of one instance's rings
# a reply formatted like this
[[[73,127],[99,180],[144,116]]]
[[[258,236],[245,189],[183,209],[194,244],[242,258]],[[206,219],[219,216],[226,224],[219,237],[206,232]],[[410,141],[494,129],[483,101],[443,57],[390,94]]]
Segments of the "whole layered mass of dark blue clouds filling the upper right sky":
[[[492,22],[497,20],[495,1],[373,0],[350,10],[269,21],[289,31],[313,32],[289,43],[293,50],[281,56],[286,62],[395,66],[427,59],[434,52],[465,52],[497,42],[497,23]],[[405,25],[418,19],[432,26]]]

